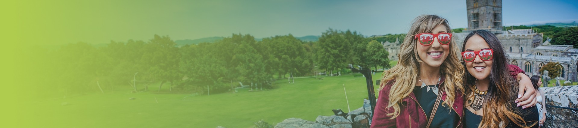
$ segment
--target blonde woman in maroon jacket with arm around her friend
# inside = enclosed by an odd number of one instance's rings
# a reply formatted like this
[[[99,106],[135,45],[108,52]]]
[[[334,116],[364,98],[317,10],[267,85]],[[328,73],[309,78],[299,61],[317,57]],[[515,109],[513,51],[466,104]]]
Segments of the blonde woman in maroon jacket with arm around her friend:
[[[442,17],[414,19],[397,65],[383,73],[371,127],[462,127],[465,70],[451,37]],[[518,101],[533,106],[535,89],[529,78],[521,82],[529,87],[520,87],[527,93]]]

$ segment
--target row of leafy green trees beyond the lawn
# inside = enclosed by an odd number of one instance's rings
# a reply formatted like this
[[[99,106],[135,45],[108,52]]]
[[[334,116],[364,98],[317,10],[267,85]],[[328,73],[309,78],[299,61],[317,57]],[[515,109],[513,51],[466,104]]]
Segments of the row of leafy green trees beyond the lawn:
[[[57,86],[58,92],[86,93],[131,86],[134,92],[228,92],[244,85],[273,88],[273,81],[294,76],[333,74],[359,65],[389,67],[388,52],[380,42],[355,31],[328,29],[317,42],[303,42],[292,35],[266,37],[232,34],[213,43],[178,47],[169,36],[112,41],[104,47],[88,43],[66,44],[42,51],[42,62],[31,77],[39,86]],[[148,88],[158,84],[157,88]],[[157,85],[155,85],[157,86]]]

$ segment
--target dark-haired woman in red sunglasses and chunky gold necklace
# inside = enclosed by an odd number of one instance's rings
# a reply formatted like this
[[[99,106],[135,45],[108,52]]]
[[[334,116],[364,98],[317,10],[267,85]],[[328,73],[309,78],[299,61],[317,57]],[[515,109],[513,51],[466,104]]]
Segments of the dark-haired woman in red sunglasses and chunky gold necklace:
[[[502,44],[493,33],[469,33],[462,46],[462,59],[467,88],[465,127],[538,127],[536,107],[512,104],[518,83],[510,73]]]

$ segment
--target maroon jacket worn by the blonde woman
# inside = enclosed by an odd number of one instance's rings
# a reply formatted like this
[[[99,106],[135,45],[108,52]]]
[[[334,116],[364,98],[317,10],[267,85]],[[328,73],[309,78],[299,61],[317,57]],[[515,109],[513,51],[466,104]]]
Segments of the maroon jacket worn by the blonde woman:
[[[445,78],[442,77],[440,83],[443,88]],[[384,88],[379,91],[379,97],[377,99],[377,104],[373,112],[373,119],[371,127],[425,127],[427,125],[427,118],[425,117],[424,110],[420,107],[417,102],[416,95],[409,93],[409,96],[403,97],[400,106],[399,116],[394,119],[390,119],[391,116],[387,116],[387,113],[393,112],[393,108],[387,108],[387,104],[390,101],[390,89],[391,85],[395,81],[388,81]],[[464,116],[464,96],[461,92],[457,92],[455,97],[454,105],[451,107],[460,116],[460,123],[458,127],[462,127],[462,116]],[[446,100],[447,93],[442,93],[442,100]],[[439,106],[443,107],[443,106]]]

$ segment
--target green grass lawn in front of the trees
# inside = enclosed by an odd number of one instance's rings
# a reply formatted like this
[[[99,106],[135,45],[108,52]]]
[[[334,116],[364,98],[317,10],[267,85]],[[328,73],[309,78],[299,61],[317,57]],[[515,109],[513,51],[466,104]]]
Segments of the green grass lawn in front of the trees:
[[[376,73],[373,80],[380,76],[381,73]],[[324,80],[296,78],[291,84],[278,80],[276,84],[279,88],[269,91],[238,89],[237,93],[184,99],[190,94],[130,93],[132,89],[127,86],[105,90],[105,94],[95,92],[25,102],[21,108],[25,111],[15,118],[29,122],[21,124],[22,127],[253,127],[253,122],[260,119],[276,125],[287,118],[315,121],[318,115],[333,115],[332,109],[348,112],[343,84],[351,110],[361,107],[367,97],[365,78],[351,74],[326,76]],[[163,91],[168,87],[164,85]],[[149,89],[158,89],[158,84]],[[136,99],[128,100],[131,97]]]

